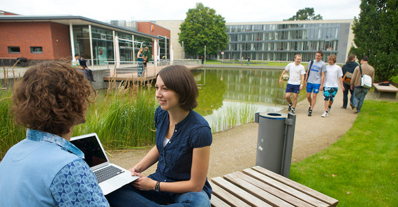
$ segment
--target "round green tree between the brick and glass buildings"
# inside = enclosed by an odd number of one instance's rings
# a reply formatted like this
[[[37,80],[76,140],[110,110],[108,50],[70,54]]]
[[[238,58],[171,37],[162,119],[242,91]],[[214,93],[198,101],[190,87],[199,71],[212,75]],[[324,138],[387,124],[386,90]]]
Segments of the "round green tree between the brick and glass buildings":
[[[226,21],[216,10],[196,3],[196,8],[190,8],[184,22],[179,27],[178,42],[188,55],[216,55],[228,44]]]

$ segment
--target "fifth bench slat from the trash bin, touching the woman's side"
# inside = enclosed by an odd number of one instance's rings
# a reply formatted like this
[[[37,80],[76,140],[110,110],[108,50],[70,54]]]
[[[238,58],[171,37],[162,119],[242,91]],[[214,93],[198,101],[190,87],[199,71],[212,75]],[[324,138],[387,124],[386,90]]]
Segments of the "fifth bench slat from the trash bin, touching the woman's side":
[[[250,206],[262,206],[262,207],[271,206],[270,204],[265,203],[264,201],[258,199],[257,197],[254,197],[252,194],[249,194],[249,192],[246,192],[241,188],[237,187],[236,185],[229,183],[227,180],[224,180],[223,178],[220,177],[212,178],[212,182],[223,187],[224,190],[230,192],[235,197],[241,199]]]

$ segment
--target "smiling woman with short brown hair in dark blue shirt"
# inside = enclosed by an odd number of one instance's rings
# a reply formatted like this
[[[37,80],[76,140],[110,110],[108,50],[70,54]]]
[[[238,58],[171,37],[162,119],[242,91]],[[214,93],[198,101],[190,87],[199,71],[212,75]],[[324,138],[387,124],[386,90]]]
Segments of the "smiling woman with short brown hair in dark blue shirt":
[[[212,132],[193,108],[198,86],[185,66],[168,66],[156,80],[156,146],[130,169],[140,176],[131,185],[108,194],[111,206],[210,206],[207,181]],[[156,172],[141,175],[158,162]]]

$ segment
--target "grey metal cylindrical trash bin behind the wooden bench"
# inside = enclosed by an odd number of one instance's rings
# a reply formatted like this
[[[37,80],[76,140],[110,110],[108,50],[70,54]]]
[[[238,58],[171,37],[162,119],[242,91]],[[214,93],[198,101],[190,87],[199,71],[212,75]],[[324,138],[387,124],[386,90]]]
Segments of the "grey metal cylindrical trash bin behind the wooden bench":
[[[256,113],[258,140],[256,165],[286,178],[290,174],[295,114]]]

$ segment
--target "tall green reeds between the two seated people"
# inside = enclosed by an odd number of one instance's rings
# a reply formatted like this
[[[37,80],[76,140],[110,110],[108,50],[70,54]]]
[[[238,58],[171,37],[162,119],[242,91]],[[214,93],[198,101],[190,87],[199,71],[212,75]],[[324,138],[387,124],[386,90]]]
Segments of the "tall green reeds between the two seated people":
[[[108,89],[103,101],[89,107],[86,123],[76,126],[73,136],[96,132],[108,150],[152,145],[157,106],[150,86]]]

